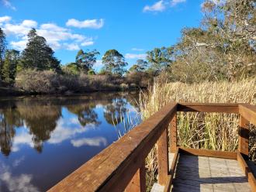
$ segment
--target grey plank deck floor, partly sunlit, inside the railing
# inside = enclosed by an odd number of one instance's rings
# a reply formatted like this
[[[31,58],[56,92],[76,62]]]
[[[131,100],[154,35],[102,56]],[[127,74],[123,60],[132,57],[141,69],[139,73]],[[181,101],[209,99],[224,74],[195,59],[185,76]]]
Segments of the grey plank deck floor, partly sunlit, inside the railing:
[[[235,159],[180,154],[171,191],[251,191]]]

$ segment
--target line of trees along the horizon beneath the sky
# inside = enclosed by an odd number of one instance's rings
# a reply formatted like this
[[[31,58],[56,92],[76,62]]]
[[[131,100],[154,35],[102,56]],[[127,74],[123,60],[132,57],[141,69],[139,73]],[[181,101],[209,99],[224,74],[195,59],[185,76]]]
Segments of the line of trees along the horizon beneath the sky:
[[[199,82],[239,80],[256,74],[256,14],[254,0],[234,0],[202,4],[204,14],[197,28],[182,29],[178,43],[147,51],[145,60],[137,60],[130,69],[118,50],[107,50],[102,70],[93,70],[99,51],[79,50],[74,63],[61,66],[54,50],[36,29],[28,33],[28,43],[21,53],[6,49],[5,33],[0,28],[0,77],[14,83],[22,70],[53,70],[57,74],[112,75],[138,83],[161,74],[168,81]]]

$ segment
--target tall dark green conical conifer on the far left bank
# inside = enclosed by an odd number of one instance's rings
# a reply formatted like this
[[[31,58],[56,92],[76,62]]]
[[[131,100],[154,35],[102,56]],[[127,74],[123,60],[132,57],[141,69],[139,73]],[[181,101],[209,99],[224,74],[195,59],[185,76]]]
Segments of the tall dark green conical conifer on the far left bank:
[[[28,34],[26,49],[22,51],[22,67],[36,70],[60,71],[60,61],[54,57],[54,50],[47,45],[43,36],[36,34],[36,29],[31,29]]]

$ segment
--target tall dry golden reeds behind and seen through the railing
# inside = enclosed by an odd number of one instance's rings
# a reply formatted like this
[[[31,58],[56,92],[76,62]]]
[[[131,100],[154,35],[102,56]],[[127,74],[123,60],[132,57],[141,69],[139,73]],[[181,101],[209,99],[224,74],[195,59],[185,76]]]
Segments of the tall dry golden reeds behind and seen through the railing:
[[[244,81],[167,83],[157,80],[147,93],[140,94],[143,119],[169,102],[250,103],[256,105],[256,78]],[[216,113],[178,113],[178,145],[196,149],[234,151],[238,146],[238,115]],[[250,158],[256,160],[256,129],[250,128]],[[147,156],[147,186],[157,179],[157,156]]]

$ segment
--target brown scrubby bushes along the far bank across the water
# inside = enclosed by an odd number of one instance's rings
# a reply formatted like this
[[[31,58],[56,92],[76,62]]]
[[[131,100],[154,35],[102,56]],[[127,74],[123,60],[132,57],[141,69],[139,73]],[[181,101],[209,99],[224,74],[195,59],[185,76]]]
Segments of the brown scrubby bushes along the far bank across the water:
[[[149,81],[133,81],[111,74],[57,74],[51,70],[24,70],[13,88],[30,94],[81,94],[93,91],[129,91],[147,87]]]

